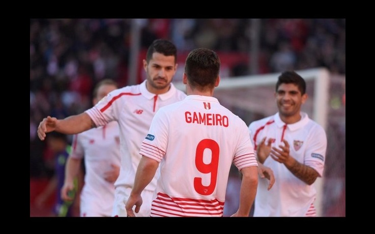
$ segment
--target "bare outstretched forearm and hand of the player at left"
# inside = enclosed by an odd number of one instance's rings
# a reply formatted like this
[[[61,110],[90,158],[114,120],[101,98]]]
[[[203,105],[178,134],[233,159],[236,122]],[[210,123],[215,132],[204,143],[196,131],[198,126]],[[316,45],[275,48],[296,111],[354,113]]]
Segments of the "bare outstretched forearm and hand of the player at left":
[[[39,139],[44,140],[46,133],[56,131],[64,134],[77,134],[96,127],[89,114],[83,112],[71,115],[64,120],[57,120],[47,116],[40,122],[38,127]]]

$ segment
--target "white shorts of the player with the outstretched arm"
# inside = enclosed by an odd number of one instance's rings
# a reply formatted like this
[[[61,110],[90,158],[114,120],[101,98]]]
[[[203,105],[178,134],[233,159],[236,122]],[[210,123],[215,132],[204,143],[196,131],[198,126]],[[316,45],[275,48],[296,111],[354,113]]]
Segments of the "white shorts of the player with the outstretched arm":
[[[114,190],[114,203],[112,217],[126,217],[125,204],[130,196],[131,188],[125,186],[117,186]],[[135,213],[136,217],[150,217],[151,203],[154,191],[143,190],[140,194],[142,197],[142,206],[139,212]]]

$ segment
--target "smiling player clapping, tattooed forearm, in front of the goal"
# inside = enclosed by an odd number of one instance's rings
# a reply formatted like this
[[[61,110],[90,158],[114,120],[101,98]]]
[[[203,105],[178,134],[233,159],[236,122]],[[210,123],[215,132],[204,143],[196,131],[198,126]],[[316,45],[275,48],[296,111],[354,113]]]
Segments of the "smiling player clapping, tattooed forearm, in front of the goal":
[[[314,182],[323,176],[326,132],[301,111],[306,83],[296,72],[278,77],[275,97],[278,112],[249,125],[257,159],[276,179],[270,191],[259,180],[254,216],[316,216]]]

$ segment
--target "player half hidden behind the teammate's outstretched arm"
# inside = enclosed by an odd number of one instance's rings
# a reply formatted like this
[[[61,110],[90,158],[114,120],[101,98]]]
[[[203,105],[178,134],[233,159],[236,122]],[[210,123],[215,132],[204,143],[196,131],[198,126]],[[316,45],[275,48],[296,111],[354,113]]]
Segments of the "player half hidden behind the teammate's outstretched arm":
[[[108,93],[118,89],[111,79],[101,80],[94,89],[93,104],[98,103]],[[73,189],[73,179],[79,173],[84,159],[84,185],[80,194],[81,217],[110,217],[114,202],[114,182],[120,172],[120,130],[116,121],[90,129],[73,136],[72,151],[69,155],[65,182],[61,196],[70,201],[69,191]]]

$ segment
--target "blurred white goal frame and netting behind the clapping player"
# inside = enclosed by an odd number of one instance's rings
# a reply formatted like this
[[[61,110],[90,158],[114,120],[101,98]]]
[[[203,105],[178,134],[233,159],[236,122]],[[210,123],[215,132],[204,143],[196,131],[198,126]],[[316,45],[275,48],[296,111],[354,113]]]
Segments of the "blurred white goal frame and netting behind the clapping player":
[[[308,102],[306,112],[311,119],[320,124],[327,131],[327,119],[329,108],[329,79],[330,74],[326,68],[312,68],[296,70],[307,83]],[[214,97],[219,102],[232,110],[235,114],[248,123],[249,119],[239,112],[255,111],[264,116],[277,112],[273,94],[277,78],[281,73],[269,73],[260,75],[247,75],[237,77],[221,77],[220,84],[215,88]],[[177,89],[185,91],[182,82],[174,82]],[[305,108],[305,107],[303,107]],[[302,109],[303,109],[302,108]],[[239,112],[238,112],[239,111]],[[303,111],[305,111],[303,109]],[[244,117],[243,117],[244,116]],[[245,120],[247,119],[247,121]],[[251,121],[255,121],[252,119]],[[315,181],[316,200],[314,202],[318,216],[322,216],[323,206],[323,180]]]

